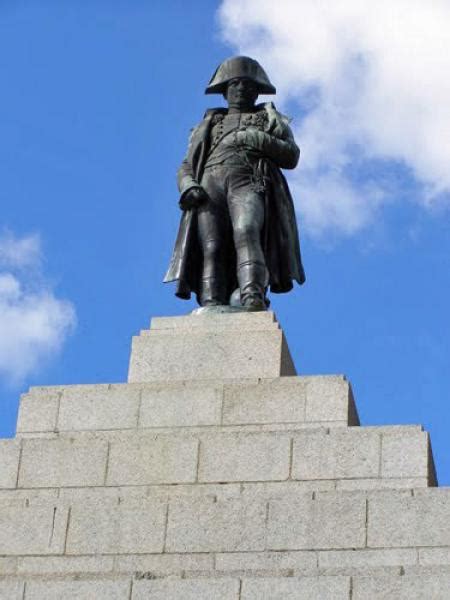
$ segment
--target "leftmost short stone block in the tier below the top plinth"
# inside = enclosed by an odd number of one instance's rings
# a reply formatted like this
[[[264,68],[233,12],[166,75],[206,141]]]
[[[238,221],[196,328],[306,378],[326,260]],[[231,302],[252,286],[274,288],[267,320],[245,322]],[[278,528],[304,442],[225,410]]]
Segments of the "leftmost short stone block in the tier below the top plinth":
[[[17,432],[54,431],[60,395],[60,387],[36,387],[23,394],[20,397]]]

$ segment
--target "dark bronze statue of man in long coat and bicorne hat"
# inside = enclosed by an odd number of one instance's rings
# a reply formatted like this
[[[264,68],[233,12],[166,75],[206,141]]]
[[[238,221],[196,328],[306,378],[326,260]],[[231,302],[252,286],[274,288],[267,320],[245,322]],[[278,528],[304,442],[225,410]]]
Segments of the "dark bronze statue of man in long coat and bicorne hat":
[[[267,291],[288,292],[305,275],[294,205],[280,169],[297,166],[287,117],[258,94],[275,94],[261,65],[246,56],[223,62],[206,94],[228,108],[206,111],[178,171],[183,210],[164,281],[202,307],[266,310]],[[231,309],[233,310],[233,309]]]

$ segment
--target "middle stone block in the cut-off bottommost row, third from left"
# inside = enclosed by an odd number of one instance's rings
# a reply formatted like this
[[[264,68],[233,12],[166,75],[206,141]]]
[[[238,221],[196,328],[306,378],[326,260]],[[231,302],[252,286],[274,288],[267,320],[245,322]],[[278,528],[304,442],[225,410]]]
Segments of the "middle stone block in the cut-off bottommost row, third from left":
[[[172,579],[136,581],[132,600],[238,600],[237,579]]]

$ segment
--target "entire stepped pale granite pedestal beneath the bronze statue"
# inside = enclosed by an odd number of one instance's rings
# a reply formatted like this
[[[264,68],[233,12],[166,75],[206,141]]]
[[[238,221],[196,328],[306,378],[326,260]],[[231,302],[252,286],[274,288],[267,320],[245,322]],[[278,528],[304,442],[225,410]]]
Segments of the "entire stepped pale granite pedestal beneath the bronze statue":
[[[428,434],[360,427],[273,313],[153,319],[129,383],[22,397],[0,600],[448,600],[435,486]]]

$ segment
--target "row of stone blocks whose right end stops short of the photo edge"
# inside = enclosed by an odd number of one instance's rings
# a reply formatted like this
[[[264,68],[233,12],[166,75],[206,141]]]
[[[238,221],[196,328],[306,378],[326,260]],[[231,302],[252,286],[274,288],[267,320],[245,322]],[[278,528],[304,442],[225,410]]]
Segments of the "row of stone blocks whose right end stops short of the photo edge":
[[[3,489],[358,479],[435,484],[428,434],[414,426],[250,433],[175,428],[4,440],[0,474]]]

